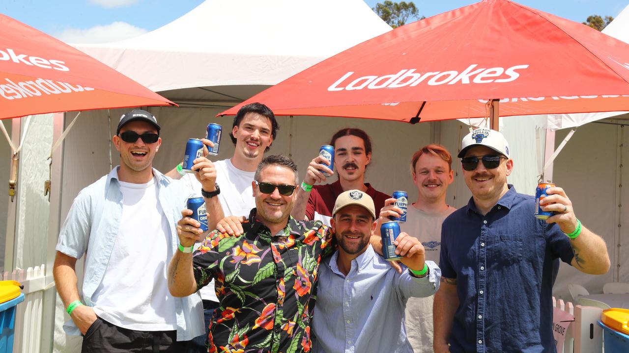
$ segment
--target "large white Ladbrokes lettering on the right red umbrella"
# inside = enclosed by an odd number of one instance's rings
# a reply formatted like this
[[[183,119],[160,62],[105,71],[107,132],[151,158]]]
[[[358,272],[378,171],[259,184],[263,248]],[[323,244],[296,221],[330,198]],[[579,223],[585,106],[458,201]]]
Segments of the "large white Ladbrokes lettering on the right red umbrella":
[[[515,65],[508,68],[491,67],[476,68],[477,64],[469,65],[462,72],[458,71],[438,71],[438,72],[415,72],[415,68],[400,70],[398,73],[384,76],[362,76],[353,78],[353,71],[345,73],[343,77],[334,82],[328,90],[358,90],[364,89],[396,89],[400,87],[415,87],[426,82],[431,86],[454,85],[470,83],[489,84],[491,82],[511,82],[520,77],[518,70],[525,70],[528,65]]]

